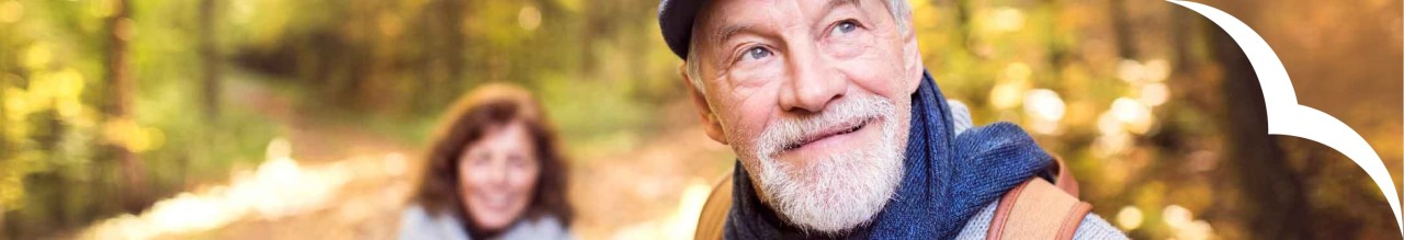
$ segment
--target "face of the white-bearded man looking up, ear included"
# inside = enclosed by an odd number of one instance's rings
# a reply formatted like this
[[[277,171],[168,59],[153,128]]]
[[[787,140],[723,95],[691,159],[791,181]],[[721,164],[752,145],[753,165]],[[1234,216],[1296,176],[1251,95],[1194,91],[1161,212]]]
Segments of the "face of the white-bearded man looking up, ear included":
[[[792,225],[844,232],[896,191],[921,80],[914,36],[896,21],[878,0],[717,0],[699,11],[699,73],[687,77],[705,91],[694,100]]]

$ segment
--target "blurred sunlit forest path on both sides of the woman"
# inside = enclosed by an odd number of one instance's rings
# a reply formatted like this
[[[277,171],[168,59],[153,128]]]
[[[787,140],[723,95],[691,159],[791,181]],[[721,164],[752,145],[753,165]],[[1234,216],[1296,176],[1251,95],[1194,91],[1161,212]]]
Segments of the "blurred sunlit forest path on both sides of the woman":
[[[286,97],[244,86],[232,94],[279,122],[270,159],[226,184],[190,189],[140,215],[79,233],[83,239],[393,239],[413,192],[416,147],[354,125],[298,114]],[[687,115],[670,107],[664,115]],[[664,119],[674,121],[674,119]],[[730,152],[699,128],[643,136],[640,146],[573,160],[570,199],[578,239],[691,239]]]

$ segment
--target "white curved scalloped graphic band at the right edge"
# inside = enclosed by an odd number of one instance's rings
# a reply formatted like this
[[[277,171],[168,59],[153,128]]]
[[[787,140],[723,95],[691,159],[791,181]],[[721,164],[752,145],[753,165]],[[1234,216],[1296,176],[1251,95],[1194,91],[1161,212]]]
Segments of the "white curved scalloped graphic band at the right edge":
[[[1214,25],[1228,32],[1234,42],[1238,42],[1238,48],[1243,48],[1244,55],[1248,56],[1248,62],[1252,63],[1252,69],[1258,74],[1258,84],[1262,86],[1264,102],[1268,107],[1269,135],[1297,136],[1314,140],[1351,157],[1355,164],[1365,168],[1370,180],[1375,180],[1375,185],[1380,187],[1380,192],[1384,194],[1384,199],[1390,202],[1390,209],[1393,209],[1396,227],[1398,227],[1400,234],[1404,234],[1404,219],[1400,218],[1398,194],[1394,189],[1393,177],[1384,168],[1379,153],[1365,142],[1365,138],[1360,138],[1360,133],[1356,133],[1355,129],[1351,129],[1351,126],[1346,126],[1339,119],[1316,108],[1297,104],[1297,95],[1292,90],[1292,79],[1287,79],[1286,67],[1282,66],[1278,53],[1272,52],[1272,48],[1268,46],[1268,42],[1258,32],[1248,28],[1248,24],[1238,21],[1238,18],[1219,8],[1193,1],[1167,1],[1207,17]]]

